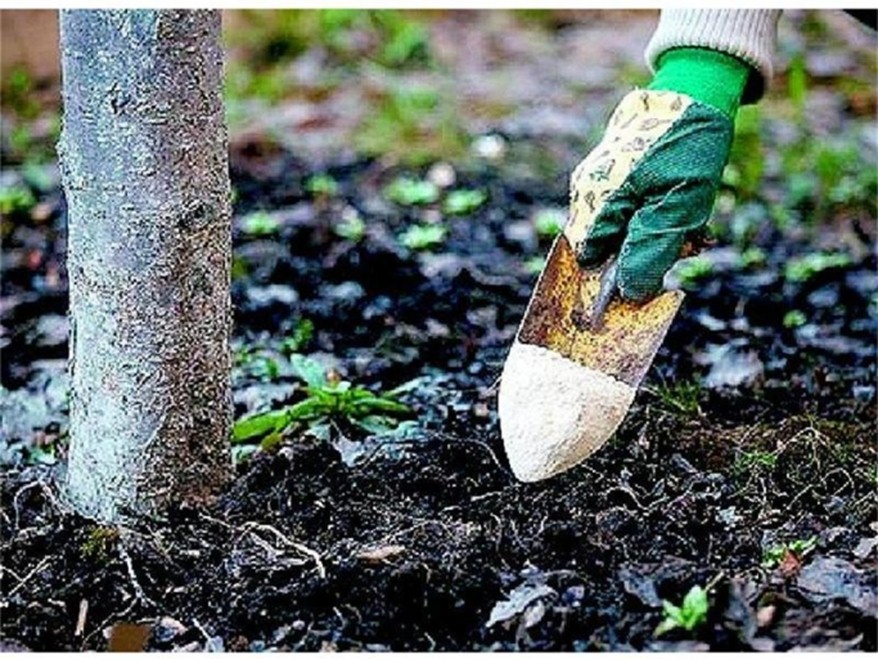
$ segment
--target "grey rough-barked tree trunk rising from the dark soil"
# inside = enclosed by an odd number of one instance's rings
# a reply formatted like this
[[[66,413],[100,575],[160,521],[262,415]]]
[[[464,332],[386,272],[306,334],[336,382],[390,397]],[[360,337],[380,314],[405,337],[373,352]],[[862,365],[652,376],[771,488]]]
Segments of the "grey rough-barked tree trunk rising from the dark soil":
[[[231,473],[231,210],[218,11],[61,12],[66,495],[105,521]]]

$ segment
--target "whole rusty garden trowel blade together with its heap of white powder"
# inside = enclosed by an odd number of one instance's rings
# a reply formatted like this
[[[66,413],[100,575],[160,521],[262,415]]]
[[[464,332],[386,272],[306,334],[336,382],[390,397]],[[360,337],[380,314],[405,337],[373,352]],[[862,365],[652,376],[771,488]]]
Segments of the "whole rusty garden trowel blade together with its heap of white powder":
[[[571,221],[552,246],[500,380],[500,429],[515,475],[537,481],[600,448],[622,422],[682,302],[613,294],[616,263],[585,270]]]

